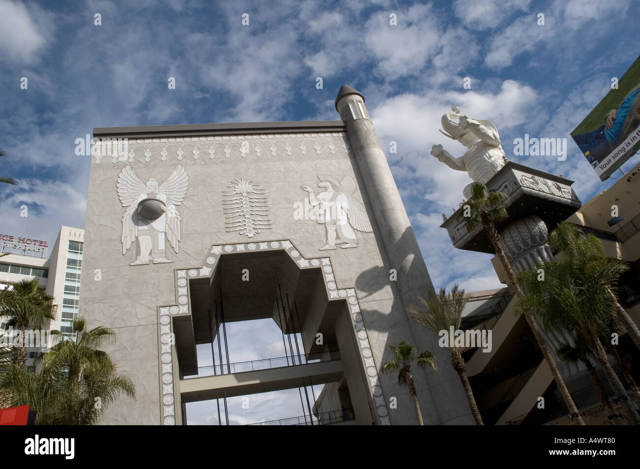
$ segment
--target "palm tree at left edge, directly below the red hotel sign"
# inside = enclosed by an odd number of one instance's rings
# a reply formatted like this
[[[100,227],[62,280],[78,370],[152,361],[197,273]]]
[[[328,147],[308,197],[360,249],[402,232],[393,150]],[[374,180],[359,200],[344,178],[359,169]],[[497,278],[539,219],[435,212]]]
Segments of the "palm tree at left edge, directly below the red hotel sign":
[[[53,312],[53,296],[40,288],[38,279],[23,280],[13,284],[12,289],[0,291],[0,316],[7,316],[5,330],[44,330],[49,328],[52,319],[56,319]],[[26,339],[26,337],[25,337]],[[15,353],[15,364],[26,363],[27,344]]]

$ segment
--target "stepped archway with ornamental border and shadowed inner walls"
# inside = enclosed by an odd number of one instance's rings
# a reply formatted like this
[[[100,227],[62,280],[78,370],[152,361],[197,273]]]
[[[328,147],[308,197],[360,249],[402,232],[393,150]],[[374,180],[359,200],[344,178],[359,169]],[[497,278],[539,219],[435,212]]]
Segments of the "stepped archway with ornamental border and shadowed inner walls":
[[[174,275],[175,304],[157,311],[164,425],[182,421],[180,383],[191,390],[194,384],[180,381],[181,370],[197,368],[195,345],[213,338],[212,307],[215,314],[221,307],[225,320],[271,316],[283,332],[298,330],[305,357],[339,348],[358,420],[390,424],[355,288],[338,287],[330,258],[304,258],[289,240],[221,244],[212,245],[198,266],[176,269]],[[295,306],[297,321],[276,314],[278,302],[291,316]],[[214,385],[200,383],[203,390]]]

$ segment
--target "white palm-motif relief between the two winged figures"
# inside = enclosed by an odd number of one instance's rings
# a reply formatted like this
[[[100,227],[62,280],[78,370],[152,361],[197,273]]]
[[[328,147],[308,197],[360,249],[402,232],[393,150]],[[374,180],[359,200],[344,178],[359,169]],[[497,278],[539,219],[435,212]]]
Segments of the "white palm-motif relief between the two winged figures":
[[[244,178],[236,179],[235,184],[227,187],[222,204],[228,232],[239,231],[252,238],[261,229],[271,229],[264,189]]]

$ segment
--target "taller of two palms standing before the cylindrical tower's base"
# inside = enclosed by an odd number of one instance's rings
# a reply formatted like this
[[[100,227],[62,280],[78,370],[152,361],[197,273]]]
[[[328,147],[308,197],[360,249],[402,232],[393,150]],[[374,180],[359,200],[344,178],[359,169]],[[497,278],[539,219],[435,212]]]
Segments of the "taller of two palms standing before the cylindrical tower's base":
[[[426,311],[422,311],[415,305],[410,305],[408,311],[410,312],[410,318],[417,323],[422,324],[433,332],[433,334],[439,335],[440,331],[448,331],[450,328],[453,330],[459,330],[462,323],[462,311],[465,309],[465,305],[469,300],[469,296],[465,295],[465,291],[458,287],[458,284],[454,285],[451,289],[451,293],[447,294],[444,288],[436,294],[435,291],[429,290],[427,298],[418,297],[422,305],[426,307]],[[471,390],[471,385],[467,378],[467,369],[465,367],[465,360],[462,358],[462,351],[456,347],[455,344],[449,344],[451,350],[451,365],[453,369],[458,372],[462,387],[465,389],[467,395],[467,401],[471,408],[471,413],[476,420],[476,425],[484,425],[480,411],[476,404],[476,398]]]

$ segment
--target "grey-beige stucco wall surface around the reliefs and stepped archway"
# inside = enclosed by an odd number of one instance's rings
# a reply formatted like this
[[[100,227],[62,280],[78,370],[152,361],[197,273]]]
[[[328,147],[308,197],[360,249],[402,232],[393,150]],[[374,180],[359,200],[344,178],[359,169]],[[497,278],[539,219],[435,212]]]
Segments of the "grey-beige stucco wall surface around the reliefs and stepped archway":
[[[247,142],[246,153],[241,150],[243,142]],[[223,151],[225,144],[228,153]],[[196,146],[198,153],[193,152]],[[135,147],[132,158],[125,156],[115,162],[110,156],[93,158],[89,183],[80,311],[92,325],[114,328],[116,343],[104,348],[118,364],[118,371],[134,381],[138,392],[135,402],[123,398],[113,405],[103,423],[161,423],[157,309],[176,302],[174,270],[202,266],[212,244],[290,240],[305,258],[329,257],[338,288],[355,288],[360,298],[378,371],[389,358],[390,344],[413,341],[397,288],[389,279],[387,254],[371,214],[369,196],[354,156],[346,150],[344,134],[216,135],[175,142],[147,139],[131,142],[131,147]],[[163,148],[167,152],[164,160]],[[211,148],[216,149],[213,158],[207,150]],[[186,196],[177,206],[182,219],[179,252],[173,252],[167,242],[166,257],[173,263],[129,266],[136,259],[136,245],[122,254],[125,208],[116,192],[118,176],[129,166],[141,181],[156,178],[162,185],[177,165],[182,165],[189,177]],[[358,247],[321,251],[319,247],[326,244],[324,226],[316,220],[294,219],[294,204],[304,203],[307,198],[301,185],[312,187],[316,194],[323,192],[318,187],[319,174],[337,180],[349,175],[358,184],[353,197],[364,204],[374,229],[373,233],[356,231]],[[225,229],[224,191],[240,178],[264,188],[268,199],[271,229],[251,239]],[[97,270],[100,281],[94,279]],[[345,362],[349,367],[351,360]],[[445,362],[439,365],[448,366]],[[424,389],[421,404],[425,421],[439,423],[441,417],[428,396],[424,375],[416,375],[417,385]],[[415,417],[409,399],[404,397],[408,394],[406,388],[397,385],[396,376],[380,375],[380,382],[385,399],[395,396],[402,403],[390,411],[391,422],[412,422]],[[446,410],[444,414],[455,415],[459,419],[456,421],[461,422],[468,408],[456,408],[458,404],[442,403],[442,408]]]

